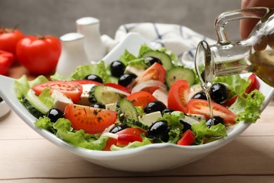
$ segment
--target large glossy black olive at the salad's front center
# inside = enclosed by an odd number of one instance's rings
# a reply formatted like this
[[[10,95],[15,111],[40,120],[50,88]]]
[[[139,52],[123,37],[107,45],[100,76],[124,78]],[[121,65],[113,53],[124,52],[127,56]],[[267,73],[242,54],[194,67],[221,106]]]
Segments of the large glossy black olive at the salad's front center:
[[[159,120],[150,125],[146,136],[150,139],[155,139],[155,142],[159,140],[167,142],[169,141],[169,125],[166,120]]]

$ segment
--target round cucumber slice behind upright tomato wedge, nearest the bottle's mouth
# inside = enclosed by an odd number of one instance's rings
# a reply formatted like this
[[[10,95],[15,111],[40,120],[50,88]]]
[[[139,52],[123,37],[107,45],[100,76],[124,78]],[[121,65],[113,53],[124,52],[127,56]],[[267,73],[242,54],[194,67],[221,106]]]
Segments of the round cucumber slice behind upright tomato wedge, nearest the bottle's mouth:
[[[167,87],[170,88],[177,80],[187,80],[191,86],[195,83],[195,73],[190,68],[183,68],[183,66],[171,68],[166,75]]]

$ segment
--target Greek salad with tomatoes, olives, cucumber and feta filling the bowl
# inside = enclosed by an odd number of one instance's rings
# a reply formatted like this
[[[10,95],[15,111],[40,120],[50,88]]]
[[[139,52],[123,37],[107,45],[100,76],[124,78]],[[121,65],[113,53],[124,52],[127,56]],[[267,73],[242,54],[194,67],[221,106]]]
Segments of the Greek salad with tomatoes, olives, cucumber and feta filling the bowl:
[[[138,56],[125,50],[110,64],[80,65],[69,77],[56,72],[51,80],[28,81],[23,75],[14,89],[36,127],[99,151],[207,144],[226,137],[231,125],[259,118],[264,96],[254,74],[214,78],[210,118],[195,71],[177,60],[165,48],[143,44]]]

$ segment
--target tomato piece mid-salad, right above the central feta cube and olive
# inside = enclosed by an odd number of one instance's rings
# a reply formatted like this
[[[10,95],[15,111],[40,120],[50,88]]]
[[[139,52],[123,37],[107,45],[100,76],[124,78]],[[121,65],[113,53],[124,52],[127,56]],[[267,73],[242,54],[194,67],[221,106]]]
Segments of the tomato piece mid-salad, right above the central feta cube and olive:
[[[140,106],[143,108],[148,103],[152,101],[157,101],[157,99],[152,94],[145,91],[140,91],[140,92],[135,92],[133,94],[130,94],[129,96],[126,96],[126,99],[128,99],[129,101],[132,101],[134,106]]]

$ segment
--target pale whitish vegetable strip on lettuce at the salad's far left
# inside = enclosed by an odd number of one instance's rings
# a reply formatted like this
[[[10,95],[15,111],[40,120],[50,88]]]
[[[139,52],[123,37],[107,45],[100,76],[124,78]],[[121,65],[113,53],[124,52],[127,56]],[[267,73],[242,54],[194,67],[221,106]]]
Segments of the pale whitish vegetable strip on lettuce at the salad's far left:
[[[43,114],[46,114],[50,108],[46,106],[43,102],[41,102],[38,98],[38,96],[35,94],[33,89],[30,89],[26,94],[26,99],[30,101],[32,106],[36,108],[38,111],[40,111]]]

